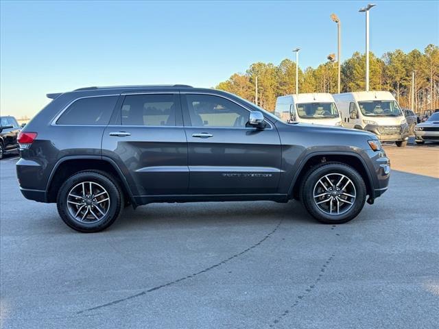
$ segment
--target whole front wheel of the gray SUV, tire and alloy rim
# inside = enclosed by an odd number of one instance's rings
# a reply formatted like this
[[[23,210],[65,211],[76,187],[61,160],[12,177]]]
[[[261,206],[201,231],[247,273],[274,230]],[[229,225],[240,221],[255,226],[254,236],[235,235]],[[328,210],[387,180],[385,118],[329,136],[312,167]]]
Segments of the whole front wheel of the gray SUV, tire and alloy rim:
[[[308,171],[300,189],[303,206],[325,224],[346,223],[366,202],[366,184],[352,167],[327,162]]]

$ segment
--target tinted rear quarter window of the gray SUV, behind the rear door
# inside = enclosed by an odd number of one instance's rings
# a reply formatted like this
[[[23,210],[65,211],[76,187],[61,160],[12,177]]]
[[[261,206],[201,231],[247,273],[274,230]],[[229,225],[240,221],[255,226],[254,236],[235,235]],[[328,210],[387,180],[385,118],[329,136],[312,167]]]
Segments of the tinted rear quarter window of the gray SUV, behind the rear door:
[[[117,96],[78,99],[62,113],[58,125],[107,125]]]

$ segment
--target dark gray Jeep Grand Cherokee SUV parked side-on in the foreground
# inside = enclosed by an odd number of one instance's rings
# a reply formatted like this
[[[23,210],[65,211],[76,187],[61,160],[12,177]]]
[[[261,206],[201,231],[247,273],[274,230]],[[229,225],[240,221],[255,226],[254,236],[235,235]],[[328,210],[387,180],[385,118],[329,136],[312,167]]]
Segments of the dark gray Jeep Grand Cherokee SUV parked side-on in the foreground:
[[[283,123],[223,91],[121,86],[47,96],[19,136],[19,184],[27,199],[56,202],[80,232],[152,202],[300,199],[318,221],[344,223],[388,188],[390,162],[375,135]]]

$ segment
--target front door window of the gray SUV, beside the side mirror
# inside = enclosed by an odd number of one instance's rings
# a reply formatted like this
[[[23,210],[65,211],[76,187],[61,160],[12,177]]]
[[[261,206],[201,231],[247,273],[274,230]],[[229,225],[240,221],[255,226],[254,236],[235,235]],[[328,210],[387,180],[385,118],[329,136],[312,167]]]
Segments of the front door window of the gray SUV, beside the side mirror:
[[[246,127],[250,112],[233,101],[214,95],[187,94],[193,127]]]

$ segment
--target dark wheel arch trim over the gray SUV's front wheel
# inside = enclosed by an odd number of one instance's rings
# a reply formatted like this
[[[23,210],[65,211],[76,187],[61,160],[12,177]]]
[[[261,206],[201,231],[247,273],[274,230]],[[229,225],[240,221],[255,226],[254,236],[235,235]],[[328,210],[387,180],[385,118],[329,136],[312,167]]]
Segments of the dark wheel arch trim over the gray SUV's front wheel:
[[[359,154],[353,152],[313,152],[305,156],[305,158],[300,162],[298,170],[294,175],[292,183],[289,187],[288,195],[289,197],[298,198],[298,193],[300,190],[300,185],[302,184],[302,179],[305,178],[305,174],[309,169],[320,164],[322,162],[342,162],[348,166],[353,167],[361,175],[361,178],[366,184],[366,192],[369,196],[373,195],[374,184],[370,171],[368,170],[367,164]]]

